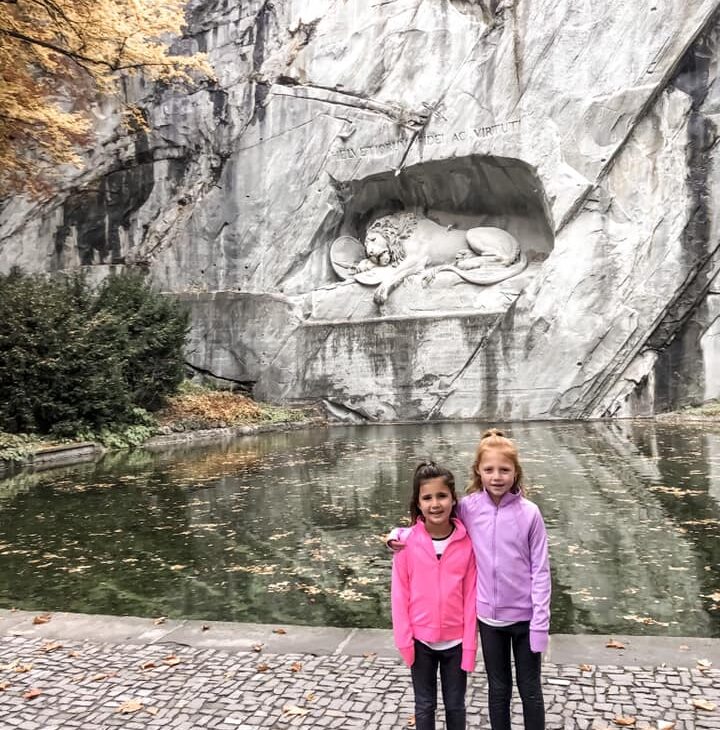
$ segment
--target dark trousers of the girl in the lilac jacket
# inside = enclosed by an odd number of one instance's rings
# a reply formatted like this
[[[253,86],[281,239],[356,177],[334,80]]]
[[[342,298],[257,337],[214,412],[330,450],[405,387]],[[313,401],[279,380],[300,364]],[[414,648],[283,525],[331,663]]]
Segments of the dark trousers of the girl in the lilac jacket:
[[[540,685],[541,655],[530,650],[530,622],[520,621],[511,626],[495,627],[480,621],[480,642],[488,677],[488,709],[492,730],[510,730],[511,646],[525,730],[544,730],[545,703]]]

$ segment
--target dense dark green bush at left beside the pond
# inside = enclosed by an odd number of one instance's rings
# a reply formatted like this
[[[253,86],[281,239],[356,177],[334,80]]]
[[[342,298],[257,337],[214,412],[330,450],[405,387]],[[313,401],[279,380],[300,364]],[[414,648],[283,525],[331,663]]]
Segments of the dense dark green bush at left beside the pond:
[[[187,313],[136,273],[0,276],[0,429],[70,436],[138,422],[183,376]]]

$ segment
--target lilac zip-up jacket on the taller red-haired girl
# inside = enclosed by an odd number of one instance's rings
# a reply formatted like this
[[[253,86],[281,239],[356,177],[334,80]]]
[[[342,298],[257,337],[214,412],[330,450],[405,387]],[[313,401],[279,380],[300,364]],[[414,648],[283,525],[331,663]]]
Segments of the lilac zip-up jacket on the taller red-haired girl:
[[[530,621],[533,651],[544,651],[550,626],[550,566],[540,510],[519,493],[496,505],[486,491],[463,497],[458,514],[478,566],[477,615]]]

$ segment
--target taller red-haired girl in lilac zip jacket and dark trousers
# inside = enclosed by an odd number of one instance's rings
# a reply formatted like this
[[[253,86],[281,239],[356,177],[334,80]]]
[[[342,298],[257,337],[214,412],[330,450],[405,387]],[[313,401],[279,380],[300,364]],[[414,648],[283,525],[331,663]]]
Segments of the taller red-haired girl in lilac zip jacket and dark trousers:
[[[550,623],[547,535],[540,510],[523,496],[517,448],[497,429],[480,440],[458,514],[472,539],[478,569],[477,616],[490,725],[510,730],[512,649],[525,730],[543,730],[540,661]]]

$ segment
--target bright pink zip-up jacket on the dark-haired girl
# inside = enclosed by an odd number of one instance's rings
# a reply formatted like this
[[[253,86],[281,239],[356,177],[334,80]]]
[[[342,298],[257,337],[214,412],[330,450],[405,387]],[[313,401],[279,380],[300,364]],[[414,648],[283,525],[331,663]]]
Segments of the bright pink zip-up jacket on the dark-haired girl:
[[[393,634],[408,666],[415,661],[414,639],[462,639],[461,667],[472,672],[477,653],[475,559],[465,526],[453,522],[455,530],[440,559],[423,522],[403,531],[405,549],[393,556]]]

